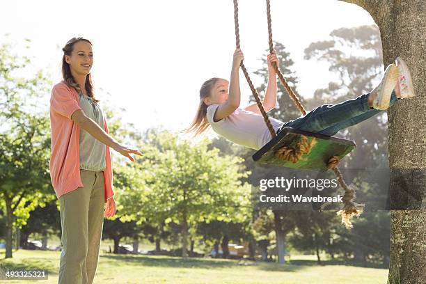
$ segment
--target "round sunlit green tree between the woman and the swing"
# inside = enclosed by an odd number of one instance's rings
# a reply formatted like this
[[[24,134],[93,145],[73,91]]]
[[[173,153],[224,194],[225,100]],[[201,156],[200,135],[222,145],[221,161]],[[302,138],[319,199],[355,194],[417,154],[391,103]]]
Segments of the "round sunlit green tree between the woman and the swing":
[[[207,141],[192,145],[169,132],[149,135],[148,143],[140,147],[145,159],[134,165],[143,173],[145,189],[139,189],[144,194],[138,189],[121,192],[125,214],[151,224],[179,224],[183,257],[198,222],[246,218],[249,187],[240,182],[246,175],[240,159],[221,157],[217,149],[207,150]]]

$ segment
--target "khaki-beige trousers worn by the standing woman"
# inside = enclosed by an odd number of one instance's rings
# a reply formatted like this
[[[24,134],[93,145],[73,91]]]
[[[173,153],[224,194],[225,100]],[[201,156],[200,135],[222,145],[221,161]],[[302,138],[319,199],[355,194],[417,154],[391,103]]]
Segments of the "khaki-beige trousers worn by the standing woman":
[[[93,283],[104,225],[104,175],[80,170],[79,187],[59,198],[63,249],[60,284]]]

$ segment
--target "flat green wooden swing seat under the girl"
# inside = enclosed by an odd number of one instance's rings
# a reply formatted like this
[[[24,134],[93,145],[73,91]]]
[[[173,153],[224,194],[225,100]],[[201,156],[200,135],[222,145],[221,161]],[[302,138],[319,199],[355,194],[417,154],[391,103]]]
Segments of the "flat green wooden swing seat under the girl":
[[[276,150],[283,146],[294,147],[301,136],[306,136],[308,141],[317,139],[317,143],[313,145],[310,152],[304,154],[299,161],[285,161],[275,155]],[[333,136],[326,136],[317,133],[310,133],[291,127],[284,127],[277,136],[264,145],[258,152],[253,155],[253,160],[262,164],[274,164],[276,166],[284,166],[287,168],[306,168],[315,171],[327,171],[327,163],[333,156],[340,159],[345,157],[355,148],[354,141],[340,139]]]

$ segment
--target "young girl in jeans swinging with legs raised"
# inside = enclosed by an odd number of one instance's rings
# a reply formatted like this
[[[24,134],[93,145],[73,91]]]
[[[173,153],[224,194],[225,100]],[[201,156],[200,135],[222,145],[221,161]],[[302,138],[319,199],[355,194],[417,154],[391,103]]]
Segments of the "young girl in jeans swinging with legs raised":
[[[239,65],[244,56],[240,49],[235,50],[230,83],[226,79],[212,78],[204,82],[200,89],[200,104],[189,132],[202,134],[209,127],[226,139],[258,150],[272,139],[269,129],[260,114],[257,104],[239,108]],[[272,63],[278,64],[276,54],[268,56],[268,86],[263,100],[265,111],[276,105],[276,74]],[[370,93],[340,104],[324,104],[295,120],[284,123],[269,118],[278,133],[283,127],[292,127],[307,132],[331,136],[341,129],[361,123],[361,121],[388,109],[398,99],[413,97],[411,75],[401,58],[396,64],[388,65],[379,85]],[[395,89],[395,90],[394,90]],[[228,91],[229,90],[229,91]]]

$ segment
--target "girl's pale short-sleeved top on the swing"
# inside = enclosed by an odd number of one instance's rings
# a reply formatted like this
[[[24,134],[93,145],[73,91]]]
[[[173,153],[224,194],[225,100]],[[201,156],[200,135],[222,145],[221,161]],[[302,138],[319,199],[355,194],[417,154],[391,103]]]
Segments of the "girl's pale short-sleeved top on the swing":
[[[217,134],[255,150],[259,150],[272,139],[260,114],[245,109],[236,109],[228,117],[214,122],[214,113],[218,107],[219,104],[211,104],[207,107],[207,121]],[[275,132],[284,124],[281,120],[274,118],[269,118],[269,120],[271,120]]]

